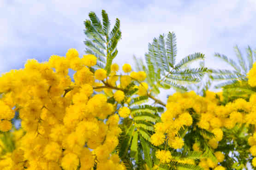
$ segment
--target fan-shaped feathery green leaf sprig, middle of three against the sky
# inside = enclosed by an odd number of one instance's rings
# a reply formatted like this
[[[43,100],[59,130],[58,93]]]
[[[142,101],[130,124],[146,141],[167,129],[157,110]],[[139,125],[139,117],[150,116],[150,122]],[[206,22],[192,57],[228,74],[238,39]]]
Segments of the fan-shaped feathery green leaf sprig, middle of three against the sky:
[[[176,35],[169,32],[167,37],[160,35],[149,43],[149,50],[145,54],[146,64],[142,59],[134,60],[137,70],[143,70],[147,74],[147,83],[152,87],[152,92],[159,94],[159,88],[174,88],[185,92],[188,89],[185,84],[200,82],[207,68],[189,68],[188,66],[197,60],[203,60],[202,53],[194,53],[176,62],[177,45]],[[146,66],[145,66],[146,65]]]

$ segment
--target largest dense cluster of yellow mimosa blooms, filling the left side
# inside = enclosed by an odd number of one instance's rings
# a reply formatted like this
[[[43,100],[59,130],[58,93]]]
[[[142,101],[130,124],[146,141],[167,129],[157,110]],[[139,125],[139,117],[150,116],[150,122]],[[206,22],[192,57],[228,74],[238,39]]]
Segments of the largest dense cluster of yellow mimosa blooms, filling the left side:
[[[24,69],[0,77],[0,130],[12,129],[11,119],[18,111],[26,131],[15,151],[7,155],[10,158],[0,160],[0,169],[90,170],[95,161],[97,170],[125,169],[118,154],[113,153],[121,132],[116,105],[107,103],[107,95],[94,93],[103,90],[103,83],[116,86],[119,67],[113,64],[104,82],[106,70],[93,73],[89,69],[96,62],[95,56],[80,58],[71,48],[65,57],[53,55],[44,63],[30,59]],[[68,69],[76,71],[74,82]],[[128,73],[131,66],[124,64],[123,70]],[[146,74],[131,72],[131,76],[121,76],[119,87],[125,88],[136,78],[144,80]],[[143,86],[140,88],[140,93],[145,92]],[[112,95],[112,89],[105,93]],[[122,102],[124,92],[117,90],[114,99]],[[119,110],[121,117],[129,114],[128,107]]]

